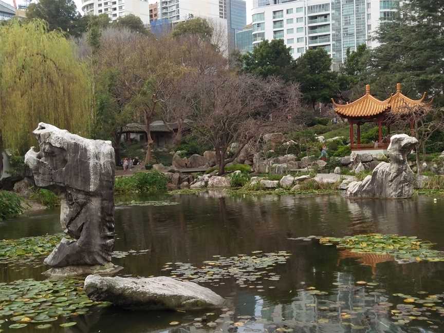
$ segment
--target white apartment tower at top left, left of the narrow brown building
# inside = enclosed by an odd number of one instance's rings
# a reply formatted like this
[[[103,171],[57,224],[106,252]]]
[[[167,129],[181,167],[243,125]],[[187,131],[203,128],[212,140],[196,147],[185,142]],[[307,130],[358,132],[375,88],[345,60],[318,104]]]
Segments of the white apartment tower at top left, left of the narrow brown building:
[[[107,14],[115,21],[127,14],[133,14],[146,25],[150,24],[150,4],[147,0],[82,0],[85,15]]]

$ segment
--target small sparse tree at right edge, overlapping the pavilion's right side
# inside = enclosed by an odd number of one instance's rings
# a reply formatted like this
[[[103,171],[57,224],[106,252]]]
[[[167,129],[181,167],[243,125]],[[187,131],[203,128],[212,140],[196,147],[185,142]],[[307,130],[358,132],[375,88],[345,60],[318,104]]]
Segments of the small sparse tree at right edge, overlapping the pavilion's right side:
[[[410,128],[411,135],[418,139],[416,144],[416,168],[418,177],[421,165],[419,152],[426,154],[427,143],[432,135],[444,130],[444,108],[434,108],[432,106],[404,106],[391,113],[387,118],[387,124],[396,126],[402,131]]]

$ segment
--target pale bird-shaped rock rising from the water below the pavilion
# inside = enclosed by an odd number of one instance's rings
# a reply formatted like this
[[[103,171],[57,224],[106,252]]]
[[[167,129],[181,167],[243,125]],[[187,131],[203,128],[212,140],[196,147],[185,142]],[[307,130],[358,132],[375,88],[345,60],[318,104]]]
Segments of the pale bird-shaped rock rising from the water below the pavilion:
[[[416,185],[415,175],[409,167],[407,155],[418,140],[406,134],[392,136],[387,153],[390,163],[381,162],[371,176],[350,184],[348,197],[409,198]]]

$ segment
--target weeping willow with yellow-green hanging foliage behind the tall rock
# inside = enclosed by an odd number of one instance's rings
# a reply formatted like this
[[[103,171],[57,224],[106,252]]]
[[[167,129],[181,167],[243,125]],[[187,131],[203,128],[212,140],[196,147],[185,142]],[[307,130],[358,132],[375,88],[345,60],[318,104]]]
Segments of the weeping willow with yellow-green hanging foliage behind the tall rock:
[[[88,68],[61,32],[40,20],[0,27],[0,68],[0,152],[26,152],[41,121],[89,136]]]

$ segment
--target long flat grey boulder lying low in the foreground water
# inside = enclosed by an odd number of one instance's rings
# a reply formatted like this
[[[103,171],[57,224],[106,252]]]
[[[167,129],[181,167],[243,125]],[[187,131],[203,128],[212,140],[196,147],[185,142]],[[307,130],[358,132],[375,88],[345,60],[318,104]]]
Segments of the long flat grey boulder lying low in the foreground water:
[[[165,276],[115,278],[88,275],[84,290],[90,300],[123,308],[145,310],[198,310],[224,306],[225,300],[208,288]]]

